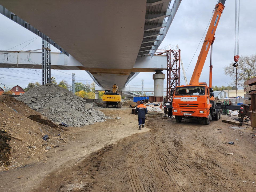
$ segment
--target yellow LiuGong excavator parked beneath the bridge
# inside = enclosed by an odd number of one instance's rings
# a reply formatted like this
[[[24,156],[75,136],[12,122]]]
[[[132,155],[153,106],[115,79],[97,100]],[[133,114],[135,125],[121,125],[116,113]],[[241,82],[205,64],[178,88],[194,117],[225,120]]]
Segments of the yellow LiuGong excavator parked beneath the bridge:
[[[103,107],[116,106],[117,108],[122,108],[122,96],[117,92],[118,86],[113,85],[112,91],[105,90],[104,95],[102,95]]]

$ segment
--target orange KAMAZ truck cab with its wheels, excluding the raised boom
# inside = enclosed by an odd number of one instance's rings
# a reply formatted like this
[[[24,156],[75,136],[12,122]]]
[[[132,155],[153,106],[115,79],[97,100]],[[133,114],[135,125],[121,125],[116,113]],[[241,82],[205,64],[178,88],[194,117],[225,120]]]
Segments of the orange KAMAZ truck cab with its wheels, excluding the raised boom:
[[[173,115],[177,122],[182,118],[204,119],[209,125],[212,119],[220,118],[219,109],[214,109],[213,89],[206,83],[177,86],[173,95]]]

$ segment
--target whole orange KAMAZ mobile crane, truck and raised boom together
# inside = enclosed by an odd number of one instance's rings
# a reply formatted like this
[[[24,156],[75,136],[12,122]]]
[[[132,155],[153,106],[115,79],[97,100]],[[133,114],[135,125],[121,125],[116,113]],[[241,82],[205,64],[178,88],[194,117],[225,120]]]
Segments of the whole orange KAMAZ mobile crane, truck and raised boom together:
[[[203,46],[199,54],[197,64],[189,85],[177,86],[173,95],[173,115],[175,120],[181,122],[182,118],[204,119],[209,125],[212,119],[221,118],[221,107],[216,106],[212,88],[212,62],[210,63],[209,87],[206,83],[199,82],[203,66],[211,45],[214,42],[214,34],[219,23],[224,3],[226,0],[219,0],[214,8],[213,17],[207,31]],[[211,47],[212,51],[212,47]],[[211,58],[212,61],[212,58]]]

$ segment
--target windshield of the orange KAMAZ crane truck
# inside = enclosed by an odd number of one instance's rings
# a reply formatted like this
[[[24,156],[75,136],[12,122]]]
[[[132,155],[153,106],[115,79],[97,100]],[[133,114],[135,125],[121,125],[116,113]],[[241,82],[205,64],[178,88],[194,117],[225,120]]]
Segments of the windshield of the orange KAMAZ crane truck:
[[[187,86],[177,87],[175,95],[205,95],[205,87]]]

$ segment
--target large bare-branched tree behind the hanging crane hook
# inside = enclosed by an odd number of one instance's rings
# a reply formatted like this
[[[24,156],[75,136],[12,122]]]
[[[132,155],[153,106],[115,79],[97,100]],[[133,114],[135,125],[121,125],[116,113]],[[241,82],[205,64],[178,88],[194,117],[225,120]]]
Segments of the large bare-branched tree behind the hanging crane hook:
[[[226,75],[229,75],[235,85],[236,67],[233,63],[225,66],[223,69]],[[253,55],[241,56],[237,66],[237,87],[245,87],[244,82],[256,76],[256,53]]]

